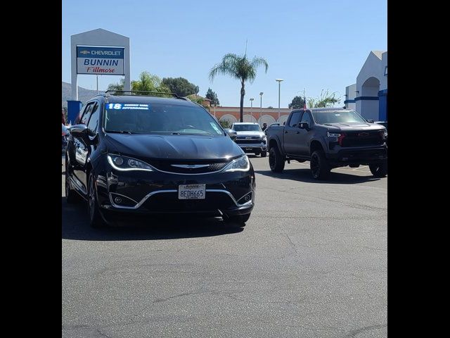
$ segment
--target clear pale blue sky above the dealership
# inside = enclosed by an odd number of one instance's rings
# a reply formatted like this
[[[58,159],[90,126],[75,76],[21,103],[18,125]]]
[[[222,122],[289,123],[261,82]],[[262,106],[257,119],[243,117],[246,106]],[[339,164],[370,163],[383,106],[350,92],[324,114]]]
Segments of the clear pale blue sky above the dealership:
[[[63,0],[62,80],[70,82],[70,36],[103,28],[130,38],[131,80],[143,70],[159,77],[186,77],[217,93],[221,106],[239,106],[238,80],[208,73],[226,53],[266,58],[269,70],[259,68],[246,84],[259,106],[287,108],[299,92],[319,96],[336,92],[341,103],[345,87],[356,82],[371,50],[387,50],[386,0],[324,1],[85,1]],[[102,75],[105,90],[120,77]],[[96,89],[94,75],[79,75],[78,85]]]

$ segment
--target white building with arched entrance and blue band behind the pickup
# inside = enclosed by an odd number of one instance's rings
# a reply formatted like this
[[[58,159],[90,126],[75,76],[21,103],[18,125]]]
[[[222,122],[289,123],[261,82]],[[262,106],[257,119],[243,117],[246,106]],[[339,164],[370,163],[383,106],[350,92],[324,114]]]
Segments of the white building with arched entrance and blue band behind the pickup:
[[[371,51],[356,77],[345,88],[347,108],[368,120],[387,120],[387,51]]]

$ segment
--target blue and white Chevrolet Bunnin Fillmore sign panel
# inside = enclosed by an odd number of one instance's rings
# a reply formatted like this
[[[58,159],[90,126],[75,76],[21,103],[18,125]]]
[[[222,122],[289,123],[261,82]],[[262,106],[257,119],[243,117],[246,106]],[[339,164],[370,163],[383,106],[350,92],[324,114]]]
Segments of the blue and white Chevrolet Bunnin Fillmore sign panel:
[[[125,75],[124,47],[77,46],[77,74]]]

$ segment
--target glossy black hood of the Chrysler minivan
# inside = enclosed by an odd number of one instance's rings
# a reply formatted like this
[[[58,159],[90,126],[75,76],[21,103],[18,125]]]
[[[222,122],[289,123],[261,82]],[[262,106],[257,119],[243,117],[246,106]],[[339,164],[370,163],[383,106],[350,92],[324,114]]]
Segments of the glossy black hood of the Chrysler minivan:
[[[229,137],[107,133],[108,151],[137,158],[210,160],[243,154]]]

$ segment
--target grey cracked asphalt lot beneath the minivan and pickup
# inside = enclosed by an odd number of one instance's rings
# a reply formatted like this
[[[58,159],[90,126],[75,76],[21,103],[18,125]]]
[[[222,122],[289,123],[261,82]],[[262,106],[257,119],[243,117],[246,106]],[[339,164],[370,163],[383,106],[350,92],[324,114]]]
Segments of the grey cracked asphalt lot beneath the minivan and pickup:
[[[63,337],[387,337],[387,177],[311,179],[251,157],[243,230],[218,219],[102,230],[62,190]]]

